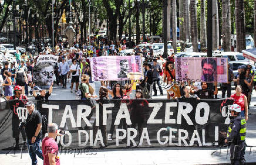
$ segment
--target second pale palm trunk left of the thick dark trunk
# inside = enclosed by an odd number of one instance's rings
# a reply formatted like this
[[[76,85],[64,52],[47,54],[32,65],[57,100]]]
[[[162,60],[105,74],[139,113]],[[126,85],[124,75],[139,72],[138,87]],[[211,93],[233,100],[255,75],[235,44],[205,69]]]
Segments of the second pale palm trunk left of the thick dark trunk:
[[[190,1],[190,22],[191,22],[191,40],[193,51],[198,51],[198,39],[197,39],[197,0]]]

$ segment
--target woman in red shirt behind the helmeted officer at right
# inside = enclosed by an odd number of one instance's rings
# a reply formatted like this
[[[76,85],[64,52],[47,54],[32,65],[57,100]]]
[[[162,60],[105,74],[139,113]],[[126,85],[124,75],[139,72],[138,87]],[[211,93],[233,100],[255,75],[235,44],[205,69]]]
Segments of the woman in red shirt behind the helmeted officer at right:
[[[231,95],[231,98],[234,98],[234,104],[241,106],[241,116],[248,120],[248,104],[247,97],[242,94],[242,88],[240,85],[237,85],[235,88],[235,94]]]

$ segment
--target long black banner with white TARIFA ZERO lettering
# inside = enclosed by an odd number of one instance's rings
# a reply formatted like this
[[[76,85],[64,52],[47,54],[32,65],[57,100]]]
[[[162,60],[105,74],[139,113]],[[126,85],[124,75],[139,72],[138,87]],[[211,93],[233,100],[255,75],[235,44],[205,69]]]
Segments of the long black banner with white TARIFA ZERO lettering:
[[[65,135],[65,149],[127,146],[218,146],[227,131],[231,99],[111,99],[35,102],[36,109]],[[22,104],[20,104],[22,105]],[[1,102],[0,149],[14,146],[14,122],[27,118],[17,101]],[[15,118],[16,116],[16,118]],[[22,136],[19,136],[22,142]]]

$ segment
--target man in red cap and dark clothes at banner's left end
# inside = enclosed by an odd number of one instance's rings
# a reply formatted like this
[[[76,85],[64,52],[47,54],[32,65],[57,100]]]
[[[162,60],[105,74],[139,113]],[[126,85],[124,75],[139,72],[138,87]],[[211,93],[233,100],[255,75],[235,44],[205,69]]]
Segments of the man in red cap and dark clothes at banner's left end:
[[[24,128],[19,129],[19,123],[22,121],[22,119],[19,119],[19,116],[22,116],[22,114],[19,114],[16,110],[18,107],[25,107],[28,98],[22,95],[22,87],[16,85],[14,87],[14,95],[9,100],[9,106],[12,110],[12,137],[15,138],[15,149],[19,149],[19,133],[21,132],[23,145],[26,143],[26,134]]]

